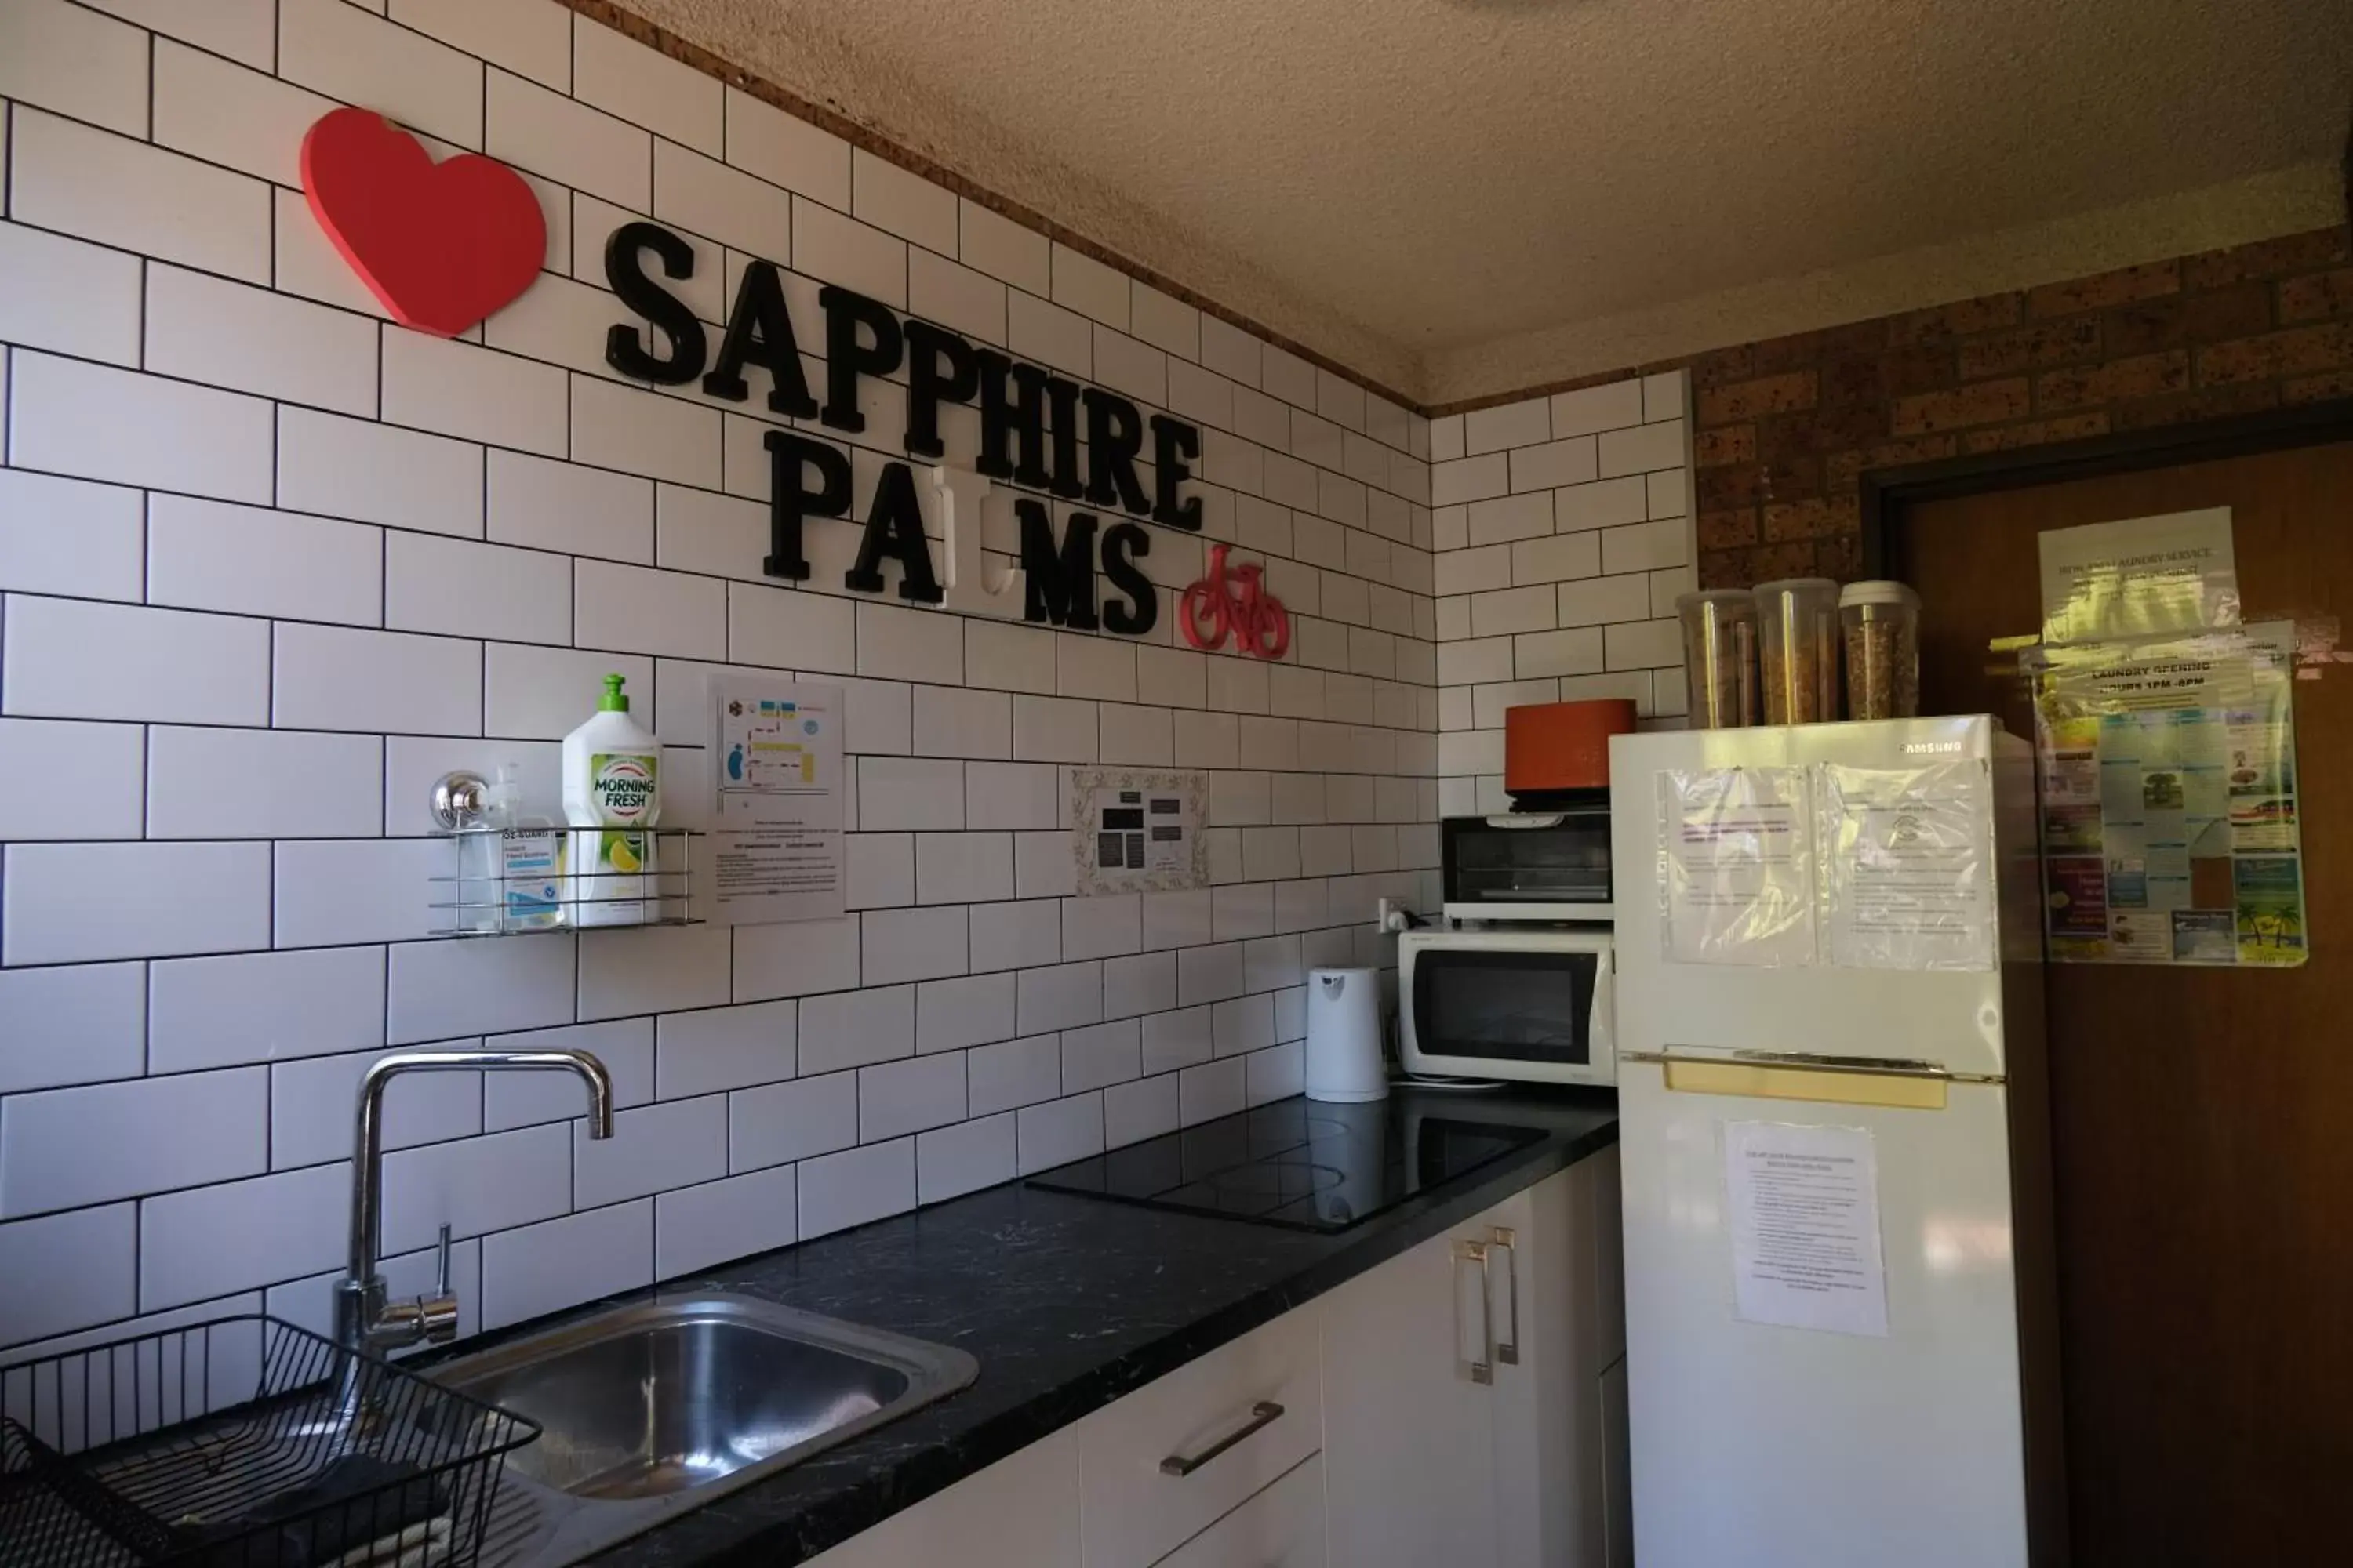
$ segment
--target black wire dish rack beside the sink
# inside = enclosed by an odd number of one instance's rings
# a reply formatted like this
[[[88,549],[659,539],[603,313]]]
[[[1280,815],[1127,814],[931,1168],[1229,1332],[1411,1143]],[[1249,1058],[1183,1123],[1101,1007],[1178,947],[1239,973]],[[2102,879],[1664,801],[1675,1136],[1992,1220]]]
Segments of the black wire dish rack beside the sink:
[[[271,1316],[0,1368],[0,1568],[466,1568],[539,1427]]]

